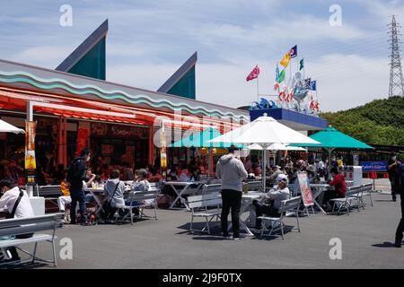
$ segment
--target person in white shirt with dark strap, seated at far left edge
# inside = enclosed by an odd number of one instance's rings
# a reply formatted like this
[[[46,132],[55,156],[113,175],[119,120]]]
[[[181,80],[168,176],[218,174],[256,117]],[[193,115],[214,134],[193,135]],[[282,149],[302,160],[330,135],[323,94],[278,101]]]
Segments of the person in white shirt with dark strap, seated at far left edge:
[[[35,215],[28,194],[19,187],[15,187],[13,180],[10,179],[0,181],[0,208],[7,209],[8,214],[6,218],[26,218]],[[32,235],[33,233],[20,234],[16,235],[15,238],[28,239],[31,238]],[[0,262],[11,263],[21,260],[16,248],[7,248],[6,251],[9,251],[11,258],[3,259],[3,261]]]

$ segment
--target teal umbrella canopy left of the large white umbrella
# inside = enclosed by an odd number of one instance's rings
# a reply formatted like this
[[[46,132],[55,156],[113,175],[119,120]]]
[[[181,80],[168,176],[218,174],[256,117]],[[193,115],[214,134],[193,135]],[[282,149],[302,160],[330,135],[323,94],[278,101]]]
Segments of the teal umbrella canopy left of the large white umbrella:
[[[217,148],[225,148],[230,147],[232,144],[237,147],[242,148],[242,144],[236,143],[207,143],[214,139],[215,137],[222,135],[213,127],[208,127],[203,131],[193,133],[189,135],[189,137],[184,138],[178,142],[171,143],[169,147],[217,147]]]

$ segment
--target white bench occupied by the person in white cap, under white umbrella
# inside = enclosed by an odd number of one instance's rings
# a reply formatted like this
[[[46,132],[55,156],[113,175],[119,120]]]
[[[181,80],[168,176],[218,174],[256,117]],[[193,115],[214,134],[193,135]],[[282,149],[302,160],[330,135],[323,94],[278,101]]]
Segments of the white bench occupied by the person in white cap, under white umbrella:
[[[286,199],[281,202],[279,207],[280,217],[269,217],[269,216],[259,216],[261,220],[261,232],[259,237],[264,235],[264,232],[268,230],[265,226],[266,222],[271,222],[271,229],[269,230],[268,236],[272,234],[273,231],[281,230],[282,239],[284,238],[284,218],[288,216],[296,216],[297,220],[297,230],[300,232],[299,224],[299,207],[302,201],[302,196],[296,196],[291,199]]]

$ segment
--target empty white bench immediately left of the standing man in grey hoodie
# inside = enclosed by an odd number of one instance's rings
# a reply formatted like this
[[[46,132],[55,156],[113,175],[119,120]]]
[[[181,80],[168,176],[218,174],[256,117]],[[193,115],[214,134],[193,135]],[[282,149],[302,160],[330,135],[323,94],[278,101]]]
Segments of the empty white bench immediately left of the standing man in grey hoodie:
[[[189,232],[191,231],[201,231],[210,234],[209,223],[216,217],[216,222],[220,218],[222,213],[220,209],[220,204],[222,204],[222,199],[219,197],[218,192],[211,192],[202,196],[189,196],[188,197],[189,208],[192,212],[191,222],[189,225]],[[205,227],[202,230],[192,229],[192,224],[195,217],[203,217],[206,220]]]

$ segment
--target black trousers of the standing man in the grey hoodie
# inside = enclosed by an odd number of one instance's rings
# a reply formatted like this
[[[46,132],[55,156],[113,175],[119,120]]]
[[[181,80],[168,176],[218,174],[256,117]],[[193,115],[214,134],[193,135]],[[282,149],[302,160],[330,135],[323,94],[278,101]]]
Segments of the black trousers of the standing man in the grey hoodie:
[[[227,217],[232,209],[233,237],[240,236],[240,208],[242,206],[242,192],[232,189],[222,189],[222,231],[228,236]]]

